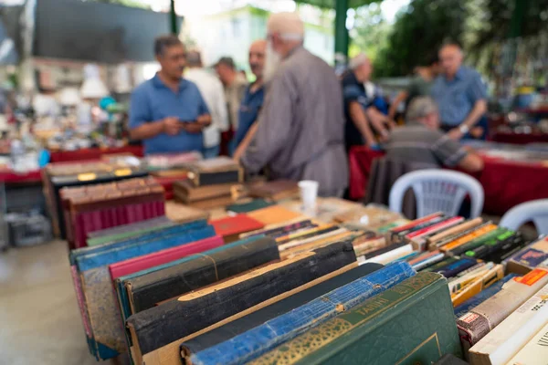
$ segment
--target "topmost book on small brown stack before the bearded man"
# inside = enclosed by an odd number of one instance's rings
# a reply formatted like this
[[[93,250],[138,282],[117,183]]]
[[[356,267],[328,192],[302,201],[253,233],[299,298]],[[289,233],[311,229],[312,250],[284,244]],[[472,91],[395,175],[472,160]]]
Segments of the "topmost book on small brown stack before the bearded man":
[[[243,183],[244,172],[228,157],[190,162],[185,165],[188,180],[195,186],[216,185],[220,183]]]

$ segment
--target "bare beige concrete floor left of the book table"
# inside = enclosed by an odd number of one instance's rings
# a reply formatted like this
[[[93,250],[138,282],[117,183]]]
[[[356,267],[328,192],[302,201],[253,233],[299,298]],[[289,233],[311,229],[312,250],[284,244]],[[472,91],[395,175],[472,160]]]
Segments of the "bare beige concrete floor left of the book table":
[[[125,362],[105,361],[105,364]],[[0,364],[92,365],[68,267],[54,241],[0,253]]]

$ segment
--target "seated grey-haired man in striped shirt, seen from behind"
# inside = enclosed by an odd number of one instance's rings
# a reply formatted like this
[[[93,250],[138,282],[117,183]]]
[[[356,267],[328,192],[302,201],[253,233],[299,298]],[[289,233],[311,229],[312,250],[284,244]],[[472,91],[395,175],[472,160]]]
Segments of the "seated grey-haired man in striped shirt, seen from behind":
[[[437,166],[458,166],[467,172],[483,169],[483,161],[471,150],[439,130],[436,102],[429,97],[414,99],[406,114],[406,126],[390,133],[386,157],[395,161],[425,162]]]

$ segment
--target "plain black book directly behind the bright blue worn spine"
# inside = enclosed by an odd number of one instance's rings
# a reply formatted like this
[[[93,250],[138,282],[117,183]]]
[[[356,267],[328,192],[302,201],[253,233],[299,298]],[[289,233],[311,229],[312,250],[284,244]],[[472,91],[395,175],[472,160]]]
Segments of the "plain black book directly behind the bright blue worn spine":
[[[258,326],[264,326],[270,319],[275,319],[272,322],[279,322],[280,316],[299,310],[300,306],[308,305],[312,300],[318,300],[319,297],[325,297],[328,293],[332,295],[339,287],[344,287],[354,280],[358,280],[363,276],[368,276],[381,268],[383,268],[383,266],[378,264],[354,267],[341,275],[334,276],[320,284],[302,290],[290,297],[286,297],[279,302],[260,308],[247,316],[237,318],[224,326],[205,332],[204,334],[195,337],[195,339],[190,339],[181,345],[182,356],[184,358],[183,362],[188,362],[191,356],[194,356],[194,359],[191,360],[193,363],[200,363],[201,361],[207,362],[207,360],[200,359],[201,351],[233,339],[237,335],[248,332],[249,330],[256,331]],[[355,294],[358,295],[358,292],[355,292]],[[271,324],[272,322],[269,322],[269,326],[276,326],[275,323]],[[248,334],[249,333],[247,333],[247,335]],[[214,352],[219,353],[218,349],[219,348],[214,350]],[[214,358],[217,362],[223,361],[222,358],[215,356]]]

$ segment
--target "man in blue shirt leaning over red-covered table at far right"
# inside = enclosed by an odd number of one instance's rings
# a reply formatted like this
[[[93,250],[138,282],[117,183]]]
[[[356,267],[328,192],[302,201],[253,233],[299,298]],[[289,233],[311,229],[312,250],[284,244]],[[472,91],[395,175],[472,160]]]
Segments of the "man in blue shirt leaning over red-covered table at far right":
[[[460,140],[479,122],[487,111],[487,90],[479,73],[462,66],[462,49],[448,44],[439,51],[442,74],[432,86],[437,101],[441,129]]]

